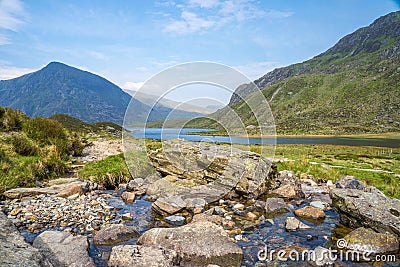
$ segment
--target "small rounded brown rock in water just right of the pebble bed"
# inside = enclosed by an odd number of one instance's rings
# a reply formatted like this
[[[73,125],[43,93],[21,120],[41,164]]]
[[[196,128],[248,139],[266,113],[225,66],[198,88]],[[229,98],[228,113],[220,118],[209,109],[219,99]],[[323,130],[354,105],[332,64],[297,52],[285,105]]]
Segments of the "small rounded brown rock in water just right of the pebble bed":
[[[93,242],[96,246],[111,246],[138,236],[133,226],[114,224],[98,231]]]

